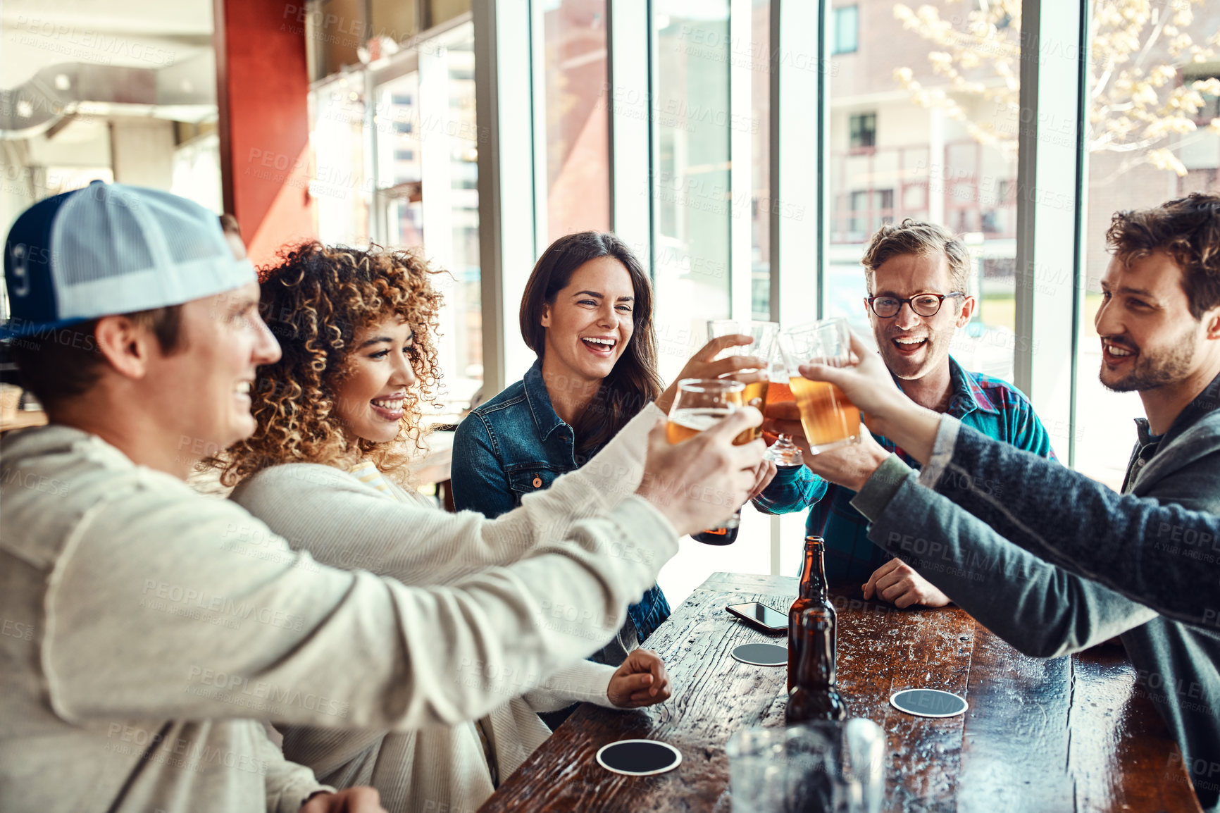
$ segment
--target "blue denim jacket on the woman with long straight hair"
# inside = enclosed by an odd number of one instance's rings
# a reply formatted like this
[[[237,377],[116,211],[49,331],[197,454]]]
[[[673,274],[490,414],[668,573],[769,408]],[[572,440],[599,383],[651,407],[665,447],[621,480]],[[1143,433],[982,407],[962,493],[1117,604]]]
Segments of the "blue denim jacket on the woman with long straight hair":
[[[593,457],[592,449],[588,457]],[[525,378],[495,398],[479,404],[458,426],[454,436],[451,477],[454,505],[499,516],[521,504],[532,491],[549,488],[555,477],[584,465],[576,457],[576,435],[555,414],[542,380],[542,359]],[[627,618],[643,642],[670,616],[670,604],[656,585],[639,603],[627,608]],[[628,635],[630,637],[630,635]],[[625,642],[630,649],[630,641]]]

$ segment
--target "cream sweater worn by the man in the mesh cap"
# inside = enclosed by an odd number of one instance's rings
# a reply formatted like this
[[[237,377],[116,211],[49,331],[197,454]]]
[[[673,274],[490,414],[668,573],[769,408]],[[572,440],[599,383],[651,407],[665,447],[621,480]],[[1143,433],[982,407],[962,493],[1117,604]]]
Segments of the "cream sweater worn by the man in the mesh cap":
[[[450,728],[536,688],[609,641],[678,547],[627,480],[572,476],[486,533],[416,511],[400,530],[420,549],[333,535],[351,563],[407,569],[467,541],[443,584],[406,586],[320,564],[79,430],[6,435],[0,811],[292,813],[318,784],[257,719]]]

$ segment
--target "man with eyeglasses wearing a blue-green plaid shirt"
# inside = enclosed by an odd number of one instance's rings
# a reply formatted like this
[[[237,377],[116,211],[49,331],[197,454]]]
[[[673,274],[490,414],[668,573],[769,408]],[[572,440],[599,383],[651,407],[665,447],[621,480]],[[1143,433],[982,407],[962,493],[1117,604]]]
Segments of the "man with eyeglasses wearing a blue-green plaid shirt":
[[[970,255],[942,226],[915,220],[882,226],[860,260],[864,300],[881,358],[906,396],[966,426],[1054,459],[1033,408],[1011,385],[963,370],[949,348],[975,313],[969,293]],[[919,464],[884,437],[877,441],[913,468]],[[754,500],[770,514],[810,508],[806,533],[826,538],[826,576],[832,586],[863,585],[897,607],[944,607],[949,598],[900,559],[874,546],[867,520],[850,505],[855,492],[828,483],[805,466],[780,469]]]

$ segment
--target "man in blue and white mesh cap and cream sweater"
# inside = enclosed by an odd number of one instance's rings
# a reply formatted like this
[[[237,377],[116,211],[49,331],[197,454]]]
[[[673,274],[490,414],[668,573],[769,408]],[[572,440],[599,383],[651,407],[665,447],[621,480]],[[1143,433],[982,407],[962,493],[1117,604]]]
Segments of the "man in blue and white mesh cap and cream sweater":
[[[654,431],[638,490],[573,472],[531,503],[566,499],[566,516],[518,515],[534,547],[511,564],[405,587],[293,553],[183,482],[254,430],[256,367],[279,356],[215,215],[118,184],[50,198],[9,233],[5,278],[5,333],[50,417],[0,444],[5,812],[379,809],[248,718],[401,730],[488,713],[609,641],[678,535],[723,513],[688,472],[743,502],[761,460],[731,443],[753,410],[677,447]],[[271,555],[229,549],[250,540]]]

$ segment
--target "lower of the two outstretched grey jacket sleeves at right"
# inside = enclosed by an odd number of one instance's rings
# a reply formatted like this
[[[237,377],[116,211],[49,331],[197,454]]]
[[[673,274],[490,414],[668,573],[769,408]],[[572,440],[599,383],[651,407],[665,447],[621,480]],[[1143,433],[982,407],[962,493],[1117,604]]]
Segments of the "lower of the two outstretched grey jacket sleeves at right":
[[[903,559],[1022,653],[1054,658],[1139,626],[1157,613],[1010,543],[916,482],[891,455],[852,504],[869,538]]]

